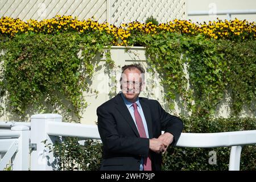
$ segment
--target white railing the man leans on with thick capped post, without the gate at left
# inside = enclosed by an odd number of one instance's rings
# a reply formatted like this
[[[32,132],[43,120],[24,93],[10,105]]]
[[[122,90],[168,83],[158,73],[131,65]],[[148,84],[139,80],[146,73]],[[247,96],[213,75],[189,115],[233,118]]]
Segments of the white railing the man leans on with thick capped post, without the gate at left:
[[[35,125],[36,124],[36,125]],[[37,135],[36,145],[40,150],[35,152],[34,156],[42,156],[40,161],[47,160],[44,163],[38,163],[36,160],[31,159],[32,170],[52,170],[53,165],[47,165],[55,163],[53,161],[53,155],[49,154],[47,149],[41,143],[42,140],[48,140],[47,143],[53,144],[56,136],[63,137],[80,137],[90,139],[100,139],[100,134],[96,125],[82,125],[80,123],[63,123],[61,122],[61,115],[33,115],[31,117],[31,141],[34,138],[34,134]],[[229,170],[240,169],[240,155],[242,145],[256,144],[256,130],[249,131],[233,131],[224,133],[181,133],[180,139],[176,146],[178,147],[231,147]],[[40,147],[39,147],[40,146]],[[44,150],[44,152],[43,152]]]

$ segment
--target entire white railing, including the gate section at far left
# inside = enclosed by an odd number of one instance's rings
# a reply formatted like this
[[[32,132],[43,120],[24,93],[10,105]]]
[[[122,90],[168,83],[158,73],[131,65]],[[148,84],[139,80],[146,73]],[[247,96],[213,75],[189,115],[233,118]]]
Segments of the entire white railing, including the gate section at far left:
[[[43,140],[48,144],[53,144],[59,136],[79,137],[81,139],[100,139],[96,125],[82,125],[80,123],[61,122],[59,114],[35,114],[31,117],[31,142],[28,143],[29,127],[24,125],[13,125],[12,131],[0,131],[0,152],[6,154],[10,150],[7,158],[10,159],[14,152],[14,170],[28,169],[28,148],[31,150],[31,170],[53,170],[57,161],[53,157],[53,152],[45,147]],[[0,122],[1,128],[1,122]],[[20,133],[21,132],[21,133]],[[23,132],[23,133],[22,133]],[[4,140],[3,140],[4,138]],[[26,138],[26,139],[25,139]],[[18,143],[17,143],[18,142]],[[229,170],[240,169],[240,155],[243,145],[256,144],[256,130],[232,131],[223,133],[181,133],[177,142],[177,147],[231,147]],[[22,154],[19,154],[22,151]],[[3,159],[2,159],[3,160]],[[2,164],[2,160],[0,164]],[[25,164],[23,164],[25,162]],[[5,162],[6,163],[6,162]],[[17,165],[18,163],[19,165]],[[0,165],[1,166],[1,165]],[[2,170],[2,168],[0,168]]]

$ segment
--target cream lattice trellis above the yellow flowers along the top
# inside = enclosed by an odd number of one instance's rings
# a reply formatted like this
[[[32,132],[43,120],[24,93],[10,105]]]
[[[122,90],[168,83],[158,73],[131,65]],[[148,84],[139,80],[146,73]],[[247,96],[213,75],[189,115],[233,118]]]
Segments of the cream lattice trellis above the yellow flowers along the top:
[[[154,16],[159,22],[185,19],[185,0],[0,0],[0,17],[48,19],[72,15],[119,26],[135,20],[144,22]]]

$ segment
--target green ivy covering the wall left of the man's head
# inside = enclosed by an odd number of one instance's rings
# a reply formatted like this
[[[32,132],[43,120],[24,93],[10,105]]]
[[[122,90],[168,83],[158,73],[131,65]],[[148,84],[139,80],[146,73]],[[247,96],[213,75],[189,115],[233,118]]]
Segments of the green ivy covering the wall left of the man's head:
[[[5,38],[1,42],[5,51],[1,56],[1,93],[8,94],[10,110],[24,114],[29,106],[43,110],[49,105],[53,110],[60,107],[72,111],[80,118],[80,111],[86,107],[82,91],[88,91],[88,80],[97,66],[93,57],[108,50],[111,40],[100,32],[31,33]],[[113,65],[110,55],[106,57],[106,63]]]

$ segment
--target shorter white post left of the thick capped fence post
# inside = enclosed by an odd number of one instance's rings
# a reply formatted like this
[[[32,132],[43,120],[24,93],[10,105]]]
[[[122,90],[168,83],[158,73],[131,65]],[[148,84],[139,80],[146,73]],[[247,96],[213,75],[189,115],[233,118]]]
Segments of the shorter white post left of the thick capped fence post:
[[[11,130],[20,131],[18,152],[13,160],[13,171],[28,171],[30,160],[30,128],[28,126],[18,125],[11,127]]]

